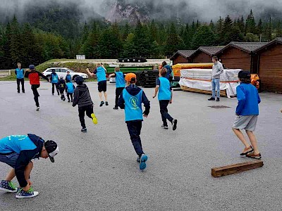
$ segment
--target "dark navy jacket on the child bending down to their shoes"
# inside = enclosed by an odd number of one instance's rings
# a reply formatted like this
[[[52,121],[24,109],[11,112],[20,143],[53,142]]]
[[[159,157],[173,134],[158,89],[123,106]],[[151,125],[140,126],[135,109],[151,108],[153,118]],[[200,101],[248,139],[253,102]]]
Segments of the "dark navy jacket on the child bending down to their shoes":
[[[43,139],[39,136],[36,136],[35,134],[27,134],[27,136],[33,143],[35,143],[37,148],[34,150],[20,151],[20,155],[18,155],[18,160],[15,165],[15,172],[18,183],[22,188],[27,186],[27,181],[25,180],[25,167],[31,162],[32,159],[39,158],[44,145]]]

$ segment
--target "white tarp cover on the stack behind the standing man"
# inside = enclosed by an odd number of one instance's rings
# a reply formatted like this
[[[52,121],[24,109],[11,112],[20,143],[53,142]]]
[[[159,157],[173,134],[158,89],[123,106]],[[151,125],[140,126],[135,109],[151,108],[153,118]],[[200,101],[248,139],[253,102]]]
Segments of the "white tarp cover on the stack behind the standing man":
[[[236,95],[238,72],[240,69],[226,69],[221,74],[220,89],[226,90],[228,98]],[[192,89],[212,91],[212,69],[180,70],[179,84]]]

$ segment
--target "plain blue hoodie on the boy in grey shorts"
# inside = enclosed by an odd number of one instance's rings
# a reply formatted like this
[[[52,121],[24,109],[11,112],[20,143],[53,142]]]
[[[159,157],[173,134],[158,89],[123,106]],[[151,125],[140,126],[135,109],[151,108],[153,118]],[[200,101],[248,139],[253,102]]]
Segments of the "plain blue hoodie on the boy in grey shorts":
[[[259,115],[259,93],[252,84],[241,83],[237,88],[237,115]]]

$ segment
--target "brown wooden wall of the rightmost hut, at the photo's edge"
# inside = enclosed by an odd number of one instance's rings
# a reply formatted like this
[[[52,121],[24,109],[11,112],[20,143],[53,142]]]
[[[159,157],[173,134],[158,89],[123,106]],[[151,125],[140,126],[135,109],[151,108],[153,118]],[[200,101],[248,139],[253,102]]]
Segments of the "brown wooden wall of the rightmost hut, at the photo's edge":
[[[259,78],[262,91],[282,93],[282,44],[273,45],[260,53]]]

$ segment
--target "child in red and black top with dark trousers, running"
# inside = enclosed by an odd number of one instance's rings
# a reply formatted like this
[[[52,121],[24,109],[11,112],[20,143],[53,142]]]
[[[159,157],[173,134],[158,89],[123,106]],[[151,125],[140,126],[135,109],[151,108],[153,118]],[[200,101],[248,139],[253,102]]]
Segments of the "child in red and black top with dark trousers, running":
[[[35,96],[35,106],[36,106],[36,110],[39,110],[39,93],[37,91],[37,89],[40,87],[40,78],[39,77],[43,77],[44,79],[47,80],[47,82],[49,82],[49,78],[46,77],[45,75],[43,75],[41,72],[37,72],[35,70],[35,65],[30,65],[29,66],[29,70],[27,70],[25,72],[25,77],[30,79],[30,85],[31,85],[31,89],[33,92],[33,95]]]

